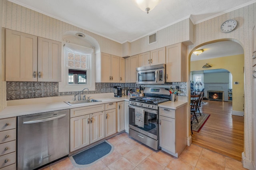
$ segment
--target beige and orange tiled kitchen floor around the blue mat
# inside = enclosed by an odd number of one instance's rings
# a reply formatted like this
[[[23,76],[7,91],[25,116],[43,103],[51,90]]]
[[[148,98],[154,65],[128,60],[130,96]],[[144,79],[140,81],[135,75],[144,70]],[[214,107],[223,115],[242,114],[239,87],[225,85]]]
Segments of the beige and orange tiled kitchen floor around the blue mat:
[[[115,147],[112,154],[87,168],[76,168],[64,158],[40,170],[243,170],[242,162],[191,145],[179,158],[162,150],[152,150],[121,133],[108,139]]]

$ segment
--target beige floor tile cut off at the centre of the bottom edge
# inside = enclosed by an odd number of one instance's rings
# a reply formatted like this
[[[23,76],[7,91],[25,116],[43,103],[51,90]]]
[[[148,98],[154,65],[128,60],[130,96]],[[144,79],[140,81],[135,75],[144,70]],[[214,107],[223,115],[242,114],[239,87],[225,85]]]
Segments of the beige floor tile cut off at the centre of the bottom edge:
[[[135,166],[122,156],[121,158],[116,160],[116,162],[110,164],[108,168],[110,170],[133,170]]]

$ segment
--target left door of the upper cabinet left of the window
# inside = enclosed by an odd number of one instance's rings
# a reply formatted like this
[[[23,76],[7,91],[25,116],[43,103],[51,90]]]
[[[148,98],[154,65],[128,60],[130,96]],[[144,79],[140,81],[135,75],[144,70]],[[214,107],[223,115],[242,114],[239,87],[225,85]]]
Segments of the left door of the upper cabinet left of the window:
[[[37,37],[6,29],[6,81],[37,81]]]

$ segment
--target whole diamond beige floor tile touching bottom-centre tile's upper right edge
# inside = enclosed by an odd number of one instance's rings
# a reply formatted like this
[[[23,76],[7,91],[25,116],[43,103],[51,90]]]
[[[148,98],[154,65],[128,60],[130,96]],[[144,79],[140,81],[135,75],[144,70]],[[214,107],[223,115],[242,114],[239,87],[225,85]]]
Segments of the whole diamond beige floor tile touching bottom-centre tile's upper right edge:
[[[140,164],[140,162],[142,162],[142,160],[144,160],[147,157],[146,154],[142,153],[137,149],[133,149],[130,152],[124,154],[123,156],[124,158],[132,162],[135,166]]]

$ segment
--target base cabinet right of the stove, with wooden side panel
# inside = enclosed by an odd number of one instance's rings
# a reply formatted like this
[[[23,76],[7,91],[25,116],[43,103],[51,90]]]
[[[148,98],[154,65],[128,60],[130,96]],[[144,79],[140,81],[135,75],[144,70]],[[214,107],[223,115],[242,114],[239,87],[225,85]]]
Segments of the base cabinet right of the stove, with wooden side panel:
[[[178,109],[159,107],[159,146],[177,158],[187,145],[186,120],[186,106]]]

